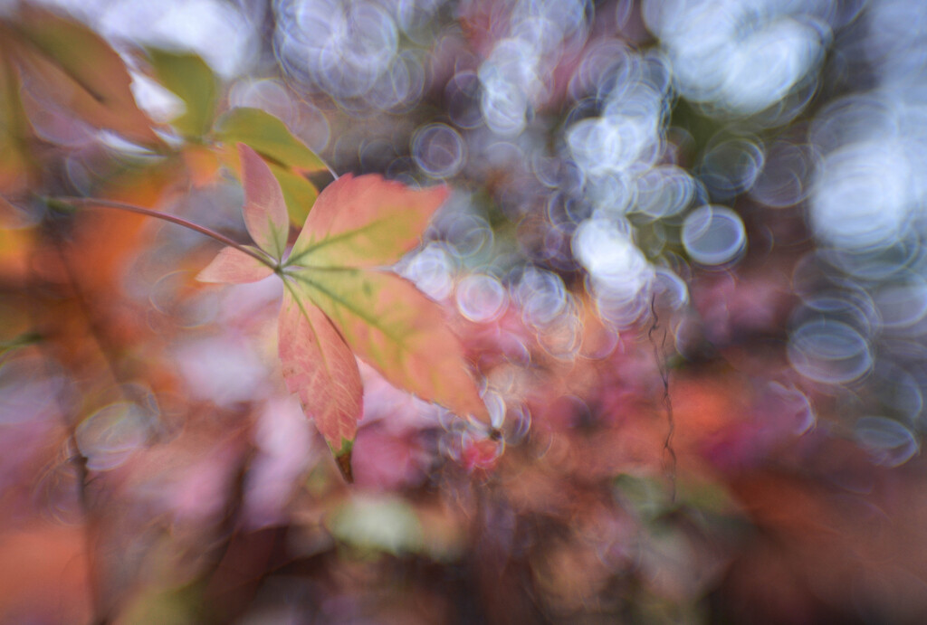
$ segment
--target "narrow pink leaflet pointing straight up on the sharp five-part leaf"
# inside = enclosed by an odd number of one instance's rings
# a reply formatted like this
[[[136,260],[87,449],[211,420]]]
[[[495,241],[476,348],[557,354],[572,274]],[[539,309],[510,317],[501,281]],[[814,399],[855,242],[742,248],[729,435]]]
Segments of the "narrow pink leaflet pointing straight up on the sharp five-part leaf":
[[[246,144],[238,144],[241,179],[245,187],[245,225],[260,249],[277,260],[284,256],[289,218],[280,183],[267,163]]]

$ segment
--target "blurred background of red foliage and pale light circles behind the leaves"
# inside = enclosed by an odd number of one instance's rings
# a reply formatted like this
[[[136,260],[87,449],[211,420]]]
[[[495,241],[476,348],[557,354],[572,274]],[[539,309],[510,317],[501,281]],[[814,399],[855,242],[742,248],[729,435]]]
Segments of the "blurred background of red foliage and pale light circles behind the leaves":
[[[362,365],[348,485],[286,394],[278,283],[197,283],[217,246],[171,224],[5,201],[2,622],[927,619],[927,5],[41,4],[183,144],[23,81],[45,193],[246,240],[151,47],[338,173],[450,185],[394,269],[502,440]]]

